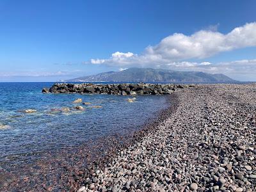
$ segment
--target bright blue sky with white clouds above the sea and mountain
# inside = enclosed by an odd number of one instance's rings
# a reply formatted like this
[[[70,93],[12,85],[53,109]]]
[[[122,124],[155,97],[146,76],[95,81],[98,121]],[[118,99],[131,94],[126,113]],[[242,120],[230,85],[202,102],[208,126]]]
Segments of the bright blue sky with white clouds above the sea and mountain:
[[[130,67],[256,81],[256,1],[0,0],[0,81]]]

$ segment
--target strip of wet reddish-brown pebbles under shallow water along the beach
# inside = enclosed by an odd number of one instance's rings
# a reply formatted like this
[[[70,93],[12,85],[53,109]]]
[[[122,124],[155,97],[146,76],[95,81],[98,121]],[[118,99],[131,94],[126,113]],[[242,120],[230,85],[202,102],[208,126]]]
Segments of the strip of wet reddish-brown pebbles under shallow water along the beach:
[[[170,106],[172,95],[163,97],[166,97],[166,109],[158,111],[156,116],[148,119],[138,130],[131,129],[124,134],[102,136],[97,140],[86,141],[76,148],[61,150],[58,154],[46,153],[42,161],[24,164],[17,169],[10,168],[10,172],[0,173],[0,191],[77,191],[84,181],[83,178],[92,173],[93,167],[103,167],[117,154],[118,150],[134,144],[134,132],[140,132],[145,127],[159,122],[160,114]],[[104,148],[104,154],[99,152],[102,148]],[[77,166],[74,167],[74,164]],[[62,175],[60,180],[58,175]],[[38,180],[43,183],[36,184]]]

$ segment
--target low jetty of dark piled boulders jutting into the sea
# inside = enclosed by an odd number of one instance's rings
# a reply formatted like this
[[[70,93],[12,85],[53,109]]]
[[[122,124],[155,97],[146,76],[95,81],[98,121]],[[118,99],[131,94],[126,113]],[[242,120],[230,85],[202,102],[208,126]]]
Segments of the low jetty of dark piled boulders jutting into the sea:
[[[55,83],[51,88],[43,88],[43,93],[97,93],[109,95],[166,95],[194,84],[152,84],[152,83]]]

